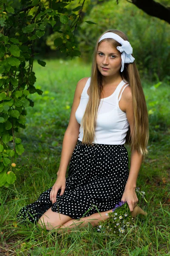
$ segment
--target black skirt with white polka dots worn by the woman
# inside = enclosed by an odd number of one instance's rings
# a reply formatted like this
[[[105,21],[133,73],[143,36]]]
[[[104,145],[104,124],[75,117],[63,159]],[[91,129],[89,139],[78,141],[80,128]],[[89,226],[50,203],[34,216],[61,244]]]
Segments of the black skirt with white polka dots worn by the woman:
[[[37,221],[50,207],[79,219],[95,212],[111,210],[121,201],[129,175],[128,153],[124,145],[82,144],[78,140],[68,169],[63,195],[50,201],[51,188],[34,203],[23,207],[18,217]]]

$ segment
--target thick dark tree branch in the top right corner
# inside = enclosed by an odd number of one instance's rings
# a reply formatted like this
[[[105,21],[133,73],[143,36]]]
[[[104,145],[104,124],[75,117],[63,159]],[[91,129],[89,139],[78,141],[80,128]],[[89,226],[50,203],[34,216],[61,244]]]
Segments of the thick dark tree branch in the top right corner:
[[[127,2],[130,2],[127,0]],[[131,3],[142,9],[148,15],[157,17],[170,23],[170,8],[155,2],[154,0],[131,0]]]

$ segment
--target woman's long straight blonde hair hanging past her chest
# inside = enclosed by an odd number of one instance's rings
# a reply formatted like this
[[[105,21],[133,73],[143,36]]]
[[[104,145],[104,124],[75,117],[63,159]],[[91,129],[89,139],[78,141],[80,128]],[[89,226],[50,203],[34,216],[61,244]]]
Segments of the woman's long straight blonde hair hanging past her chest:
[[[107,30],[106,32],[113,32],[124,40],[128,40],[127,36],[119,30]],[[104,32],[103,34],[105,34]],[[101,37],[101,36],[100,36]],[[100,38],[99,37],[99,38]],[[81,128],[83,128],[82,143],[91,144],[94,141],[96,130],[96,117],[98,107],[101,99],[101,93],[103,89],[102,75],[99,72],[96,64],[97,49],[100,45],[99,38],[96,42],[96,46],[93,54],[92,70],[91,70],[91,84],[89,86],[90,95],[88,104],[85,109],[85,113],[82,118]],[[108,41],[113,44],[114,47],[121,46],[117,41],[112,38],[106,38],[102,41]],[[133,54],[132,54],[133,55]],[[133,134],[130,132],[130,128],[127,131],[126,143],[130,144],[131,150],[137,150],[140,154],[145,155],[147,151],[147,143],[149,139],[149,123],[147,105],[144,97],[144,92],[141,85],[138,69],[135,62],[125,64],[124,70],[120,72],[122,80],[128,82],[132,92],[133,98],[133,112],[134,112],[134,124]]]

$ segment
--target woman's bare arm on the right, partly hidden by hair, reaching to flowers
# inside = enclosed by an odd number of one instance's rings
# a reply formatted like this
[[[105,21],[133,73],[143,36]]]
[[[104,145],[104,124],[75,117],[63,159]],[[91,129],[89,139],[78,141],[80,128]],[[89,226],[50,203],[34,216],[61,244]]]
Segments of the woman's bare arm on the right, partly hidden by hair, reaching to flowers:
[[[121,102],[122,100],[122,102]],[[122,93],[122,98],[119,103],[119,107],[122,111],[126,112],[127,120],[130,125],[130,131],[133,134],[134,128],[134,113],[133,113],[133,100],[132,93],[129,86],[127,86]],[[130,212],[133,211],[134,207],[138,202],[138,198],[135,192],[137,177],[142,164],[143,156],[137,152],[137,150],[131,151],[130,157],[130,170],[125,191],[122,195],[122,201],[127,201]]]

